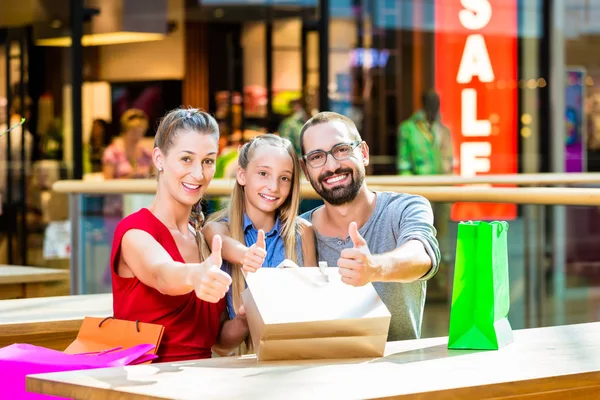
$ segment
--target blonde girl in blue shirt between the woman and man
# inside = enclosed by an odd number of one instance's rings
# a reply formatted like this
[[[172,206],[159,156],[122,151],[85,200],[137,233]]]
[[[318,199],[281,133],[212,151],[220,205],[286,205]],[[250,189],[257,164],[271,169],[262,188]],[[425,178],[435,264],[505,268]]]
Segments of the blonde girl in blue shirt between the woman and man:
[[[215,234],[223,236],[223,258],[229,262],[224,269],[233,281],[227,294],[230,318],[242,304],[245,272],[276,267],[286,258],[317,265],[312,227],[297,217],[300,171],[288,139],[260,135],[240,149],[229,206],[211,215],[203,229],[209,243]]]

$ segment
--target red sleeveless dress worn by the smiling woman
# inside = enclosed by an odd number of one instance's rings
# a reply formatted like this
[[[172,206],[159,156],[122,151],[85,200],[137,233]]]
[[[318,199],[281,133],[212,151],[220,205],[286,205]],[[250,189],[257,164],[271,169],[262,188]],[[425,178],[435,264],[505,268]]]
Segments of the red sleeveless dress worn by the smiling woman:
[[[147,208],[119,222],[112,244],[111,267],[114,317],[129,321],[160,324],[165,327],[155,362],[170,362],[210,358],[220,329],[225,300],[208,303],[194,292],[168,296],[151,288],[137,278],[117,274],[121,240],[130,229],[148,232],[173,260],[185,262],[169,229]]]

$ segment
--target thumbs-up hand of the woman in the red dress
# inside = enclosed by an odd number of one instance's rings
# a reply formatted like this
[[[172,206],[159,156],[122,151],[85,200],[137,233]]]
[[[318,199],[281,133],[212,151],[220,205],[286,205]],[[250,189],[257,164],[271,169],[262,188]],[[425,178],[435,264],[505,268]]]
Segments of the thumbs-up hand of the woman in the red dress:
[[[215,235],[212,241],[212,253],[203,263],[191,264],[189,281],[200,300],[217,303],[231,285],[231,277],[221,270],[221,236]]]

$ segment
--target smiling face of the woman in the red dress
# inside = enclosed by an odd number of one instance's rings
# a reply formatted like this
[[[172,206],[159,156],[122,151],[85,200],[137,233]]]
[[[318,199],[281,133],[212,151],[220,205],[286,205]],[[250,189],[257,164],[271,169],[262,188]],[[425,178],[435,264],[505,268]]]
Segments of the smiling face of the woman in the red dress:
[[[215,175],[218,140],[214,135],[180,129],[166,153],[154,148],[159,184],[179,203],[196,204]]]

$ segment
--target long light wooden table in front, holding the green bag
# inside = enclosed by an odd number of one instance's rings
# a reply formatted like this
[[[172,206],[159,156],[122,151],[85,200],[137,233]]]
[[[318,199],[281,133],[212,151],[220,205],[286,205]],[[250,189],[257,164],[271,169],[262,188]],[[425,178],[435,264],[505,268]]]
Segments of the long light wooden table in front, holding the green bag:
[[[433,338],[388,343],[377,359],[214,358],[31,375],[27,388],[73,399],[593,398],[600,323],[515,331],[500,351],[448,350]]]

